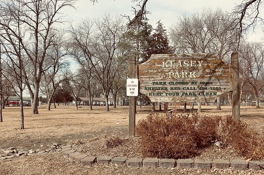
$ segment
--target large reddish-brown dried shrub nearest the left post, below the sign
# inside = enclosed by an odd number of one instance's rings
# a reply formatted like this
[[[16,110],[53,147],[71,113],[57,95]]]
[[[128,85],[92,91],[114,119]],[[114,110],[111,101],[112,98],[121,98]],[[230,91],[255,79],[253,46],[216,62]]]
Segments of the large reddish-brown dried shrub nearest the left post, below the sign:
[[[180,158],[196,153],[194,137],[189,136],[193,129],[192,120],[185,117],[150,114],[136,126],[137,135],[142,136],[141,151],[147,157]]]

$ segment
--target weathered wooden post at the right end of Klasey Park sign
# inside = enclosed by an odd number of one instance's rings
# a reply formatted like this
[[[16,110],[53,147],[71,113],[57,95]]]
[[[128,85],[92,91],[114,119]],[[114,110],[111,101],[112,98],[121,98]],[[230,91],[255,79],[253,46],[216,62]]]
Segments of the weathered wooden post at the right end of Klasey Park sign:
[[[239,67],[238,53],[234,51],[231,54],[231,70],[232,70],[232,116],[240,120],[240,95],[239,95]]]

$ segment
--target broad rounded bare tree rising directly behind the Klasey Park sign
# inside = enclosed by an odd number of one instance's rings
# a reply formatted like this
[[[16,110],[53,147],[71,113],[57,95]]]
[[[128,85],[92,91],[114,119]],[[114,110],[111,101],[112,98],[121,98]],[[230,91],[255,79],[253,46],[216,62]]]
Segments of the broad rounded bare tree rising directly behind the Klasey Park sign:
[[[191,16],[185,14],[170,28],[169,34],[179,53],[216,53],[219,59],[226,61],[236,45],[234,24],[221,9],[204,9]],[[220,96],[217,97],[217,110],[221,110]],[[199,103],[198,111],[201,111]]]

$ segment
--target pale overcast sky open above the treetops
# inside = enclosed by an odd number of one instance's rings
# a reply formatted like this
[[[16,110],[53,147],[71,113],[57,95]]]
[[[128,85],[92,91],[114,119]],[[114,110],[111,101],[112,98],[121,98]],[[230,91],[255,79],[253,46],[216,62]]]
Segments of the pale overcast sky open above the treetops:
[[[67,21],[80,21],[85,18],[97,18],[103,16],[104,13],[112,15],[132,15],[132,7],[136,7],[136,3],[131,0],[97,0],[98,3],[93,3],[90,0],[79,0],[76,2],[75,7],[65,8],[63,13],[67,16]],[[162,21],[163,25],[168,29],[172,24],[177,22],[178,17],[182,14],[193,14],[201,12],[203,8],[210,7],[213,10],[218,7],[223,11],[231,12],[236,4],[240,4],[241,0],[148,0],[146,9],[150,12],[147,14],[149,24],[156,28],[156,22]],[[138,8],[137,8],[138,9]],[[263,10],[261,11],[263,12]],[[263,12],[264,13],[264,12]],[[261,14],[262,17],[264,15]],[[249,41],[260,41],[264,36],[262,27],[256,28],[255,33],[252,35],[249,32]]]

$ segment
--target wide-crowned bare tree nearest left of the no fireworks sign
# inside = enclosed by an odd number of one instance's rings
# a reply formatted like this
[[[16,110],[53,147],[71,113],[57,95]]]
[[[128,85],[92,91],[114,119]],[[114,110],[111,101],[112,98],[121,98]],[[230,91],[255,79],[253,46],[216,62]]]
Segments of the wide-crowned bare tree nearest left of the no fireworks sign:
[[[105,97],[106,111],[109,111],[108,97],[118,70],[117,50],[125,31],[122,18],[110,15],[94,22],[86,20],[76,28],[70,28],[74,50],[79,48],[82,51],[76,57],[77,62],[85,70],[93,70]]]

